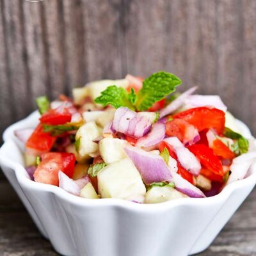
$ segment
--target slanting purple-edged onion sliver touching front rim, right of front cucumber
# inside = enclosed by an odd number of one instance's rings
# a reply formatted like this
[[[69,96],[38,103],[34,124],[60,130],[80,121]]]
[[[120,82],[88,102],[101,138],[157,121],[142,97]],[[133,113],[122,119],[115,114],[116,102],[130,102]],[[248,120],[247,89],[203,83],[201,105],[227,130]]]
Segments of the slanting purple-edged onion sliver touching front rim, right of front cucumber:
[[[181,193],[189,196],[189,197],[195,197],[195,198],[202,198],[205,197],[204,193],[193,186],[188,180],[183,179],[179,174],[171,171],[173,182],[175,184],[175,189],[180,191]]]

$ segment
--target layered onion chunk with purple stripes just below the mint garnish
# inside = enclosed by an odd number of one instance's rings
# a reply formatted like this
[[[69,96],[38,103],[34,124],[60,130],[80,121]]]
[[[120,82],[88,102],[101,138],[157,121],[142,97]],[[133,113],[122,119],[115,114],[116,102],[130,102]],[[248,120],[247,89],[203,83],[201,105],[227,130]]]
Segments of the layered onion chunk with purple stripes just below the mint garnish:
[[[140,138],[150,131],[153,122],[152,115],[136,113],[121,107],[116,109],[112,127],[116,132]]]

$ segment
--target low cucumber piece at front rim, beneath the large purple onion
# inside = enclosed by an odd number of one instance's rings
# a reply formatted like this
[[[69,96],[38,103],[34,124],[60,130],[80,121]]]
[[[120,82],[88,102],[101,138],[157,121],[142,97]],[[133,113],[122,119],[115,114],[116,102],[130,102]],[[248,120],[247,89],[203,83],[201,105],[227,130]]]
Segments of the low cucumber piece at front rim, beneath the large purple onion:
[[[157,204],[170,201],[177,198],[188,197],[183,193],[180,193],[174,188],[164,187],[153,187],[149,189],[145,196],[146,204]]]

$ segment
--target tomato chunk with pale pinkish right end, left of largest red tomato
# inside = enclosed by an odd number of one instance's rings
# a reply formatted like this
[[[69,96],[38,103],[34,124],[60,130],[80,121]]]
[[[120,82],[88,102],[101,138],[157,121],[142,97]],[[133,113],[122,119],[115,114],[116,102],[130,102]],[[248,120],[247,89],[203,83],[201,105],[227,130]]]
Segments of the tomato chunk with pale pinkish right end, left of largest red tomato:
[[[187,143],[193,141],[195,136],[198,135],[198,131],[185,120],[177,118],[166,122],[166,134],[175,136],[183,143]]]

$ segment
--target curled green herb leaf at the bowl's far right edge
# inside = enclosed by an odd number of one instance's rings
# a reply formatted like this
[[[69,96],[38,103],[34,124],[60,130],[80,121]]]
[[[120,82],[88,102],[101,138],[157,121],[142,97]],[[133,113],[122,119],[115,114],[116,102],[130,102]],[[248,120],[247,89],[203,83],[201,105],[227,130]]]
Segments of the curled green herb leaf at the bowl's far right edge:
[[[224,136],[232,140],[236,140],[234,144],[231,145],[231,150],[236,154],[244,154],[248,152],[249,141],[244,138],[241,134],[232,131],[230,128],[225,127]]]

